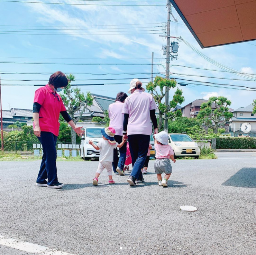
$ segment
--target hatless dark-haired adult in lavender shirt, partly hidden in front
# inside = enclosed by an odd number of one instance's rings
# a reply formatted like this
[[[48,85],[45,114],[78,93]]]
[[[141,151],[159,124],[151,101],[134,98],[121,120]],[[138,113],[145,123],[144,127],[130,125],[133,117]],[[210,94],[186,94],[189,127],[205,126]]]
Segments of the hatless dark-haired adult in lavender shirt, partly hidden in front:
[[[127,94],[120,92],[117,94],[116,102],[111,104],[108,108],[108,115],[110,118],[109,126],[115,128],[116,135],[115,140],[118,144],[122,143],[123,140],[123,124],[124,124],[124,114],[122,114],[122,109],[124,106],[125,99]],[[119,148],[120,157],[118,159],[117,148],[114,149],[114,158],[112,162],[113,171],[115,174],[125,175],[125,159],[126,159],[126,143],[124,146]]]

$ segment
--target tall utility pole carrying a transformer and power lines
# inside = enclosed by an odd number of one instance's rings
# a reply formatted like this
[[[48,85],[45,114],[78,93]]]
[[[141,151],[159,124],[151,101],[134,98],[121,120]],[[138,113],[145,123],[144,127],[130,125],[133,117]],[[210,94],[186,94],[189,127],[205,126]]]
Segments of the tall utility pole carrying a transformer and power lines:
[[[166,71],[165,71],[165,78],[170,79],[170,30],[171,30],[171,2],[167,0],[167,8],[168,8],[168,15],[167,15],[167,28],[166,28]],[[166,87],[165,91],[165,106],[169,105],[169,89]],[[164,131],[168,133],[168,119],[167,113],[164,114]]]

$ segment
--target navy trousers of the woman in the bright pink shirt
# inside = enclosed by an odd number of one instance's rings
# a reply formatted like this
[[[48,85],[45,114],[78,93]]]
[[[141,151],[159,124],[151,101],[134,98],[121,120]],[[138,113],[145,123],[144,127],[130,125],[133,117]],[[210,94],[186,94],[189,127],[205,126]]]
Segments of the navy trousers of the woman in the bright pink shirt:
[[[48,185],[54,185],[58,182],[57,177],[57,152],[56,152],[56,143],[57,136],[51,132],[41,132],[41,137],[38,137],[40,143],[43,146],[43,157],[42,163],[40,166],[39,174],[37,176],[37,183],[45,183],[45,180],[48,179]]]

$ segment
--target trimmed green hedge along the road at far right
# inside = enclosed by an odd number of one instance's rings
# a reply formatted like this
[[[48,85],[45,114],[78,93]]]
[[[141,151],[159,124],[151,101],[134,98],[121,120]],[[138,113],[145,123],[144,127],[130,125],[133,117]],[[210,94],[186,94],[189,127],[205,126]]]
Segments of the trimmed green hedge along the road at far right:
[[[256,138],[218,137],[216,149],[256,149]]]

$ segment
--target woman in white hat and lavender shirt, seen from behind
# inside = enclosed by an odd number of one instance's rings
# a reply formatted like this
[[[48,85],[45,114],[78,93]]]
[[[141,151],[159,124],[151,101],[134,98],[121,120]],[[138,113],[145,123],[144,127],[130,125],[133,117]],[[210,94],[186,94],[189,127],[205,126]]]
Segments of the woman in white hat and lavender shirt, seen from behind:
[[[133,79],[130,82],[130,89],[128,91],[131,95],[125,99],[122,110],[124,114],[123,135],[124,139],[126,139],[128,130],[128,141],[133,166],[127,182],[132,186],[136,185],[136,180],[138,183],[144,182],[141,168],[147,157],[150,135],[152,134],[150,118],[155,134],[158,133],[155,114],[157,106],[153,96],[144,91],[142,82],[138,79]]]

